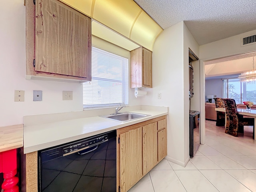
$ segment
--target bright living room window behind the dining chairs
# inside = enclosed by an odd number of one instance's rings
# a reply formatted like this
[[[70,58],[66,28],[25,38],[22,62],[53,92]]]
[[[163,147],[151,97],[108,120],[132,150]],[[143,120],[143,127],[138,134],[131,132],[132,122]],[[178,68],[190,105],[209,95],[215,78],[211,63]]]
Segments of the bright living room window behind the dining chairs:
[[[238,78],[223,79],[223,98],[232,98],[236,104],[243,101],[256,103],[255,84],[244,84]]]

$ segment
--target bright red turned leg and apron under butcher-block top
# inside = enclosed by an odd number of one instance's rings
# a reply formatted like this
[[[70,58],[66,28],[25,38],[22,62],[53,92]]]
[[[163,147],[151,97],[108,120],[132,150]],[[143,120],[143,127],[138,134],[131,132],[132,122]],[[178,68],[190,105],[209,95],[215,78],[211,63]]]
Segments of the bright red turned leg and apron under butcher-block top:
[[[4,192],[19,192],[17,186],[19,178],[17,174],[17,150],[9,150],[0,153],[0,172],[4,175],[2,189]]]

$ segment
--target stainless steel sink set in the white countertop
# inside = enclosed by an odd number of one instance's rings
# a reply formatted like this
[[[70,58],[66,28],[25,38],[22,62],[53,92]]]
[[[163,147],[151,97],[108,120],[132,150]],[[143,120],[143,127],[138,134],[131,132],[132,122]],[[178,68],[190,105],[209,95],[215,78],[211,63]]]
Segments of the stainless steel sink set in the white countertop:
[[[140,118],[148,117],[148,116],[151,116],[151,115],[140,114],[140,113],[132,113],[132,112],[124,112],[124,113],[103,115],[101,117],[111,119],[111,120],[115,120],[115,121],[119,121],[119,122],[126,122],[126,121],[140,119]]]

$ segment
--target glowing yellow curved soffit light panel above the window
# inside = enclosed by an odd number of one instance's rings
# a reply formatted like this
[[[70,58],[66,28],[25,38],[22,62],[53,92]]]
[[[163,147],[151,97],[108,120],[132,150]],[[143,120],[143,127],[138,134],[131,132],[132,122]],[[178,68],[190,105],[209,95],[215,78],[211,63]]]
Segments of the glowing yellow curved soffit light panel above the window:
[[[154,41],[163,31],[163,29],[132,0],[60,1],[151,51]],[[92,34],[94,34],[93,29]]]

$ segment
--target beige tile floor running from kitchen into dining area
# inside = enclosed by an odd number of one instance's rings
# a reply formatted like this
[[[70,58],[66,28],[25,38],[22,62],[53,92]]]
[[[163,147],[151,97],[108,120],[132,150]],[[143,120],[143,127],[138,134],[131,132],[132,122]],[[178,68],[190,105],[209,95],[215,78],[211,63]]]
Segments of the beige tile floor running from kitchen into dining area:
[[[186,167],[164,159],[128,192],[256,192],[252,126],[233,137],[215,123],[206,120],[206,144],[194,151]],[[198,135],[195,129],[195,140]]]

